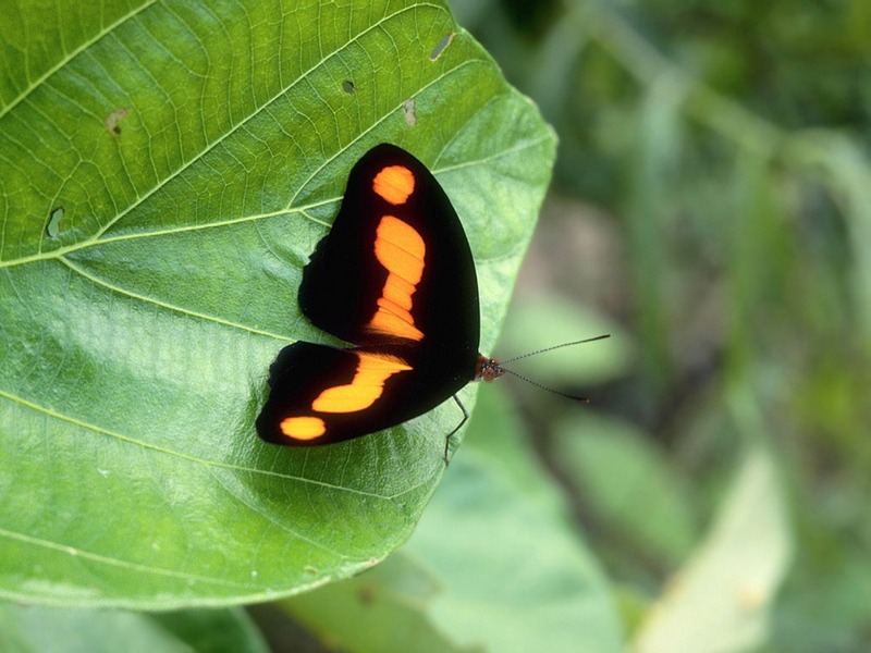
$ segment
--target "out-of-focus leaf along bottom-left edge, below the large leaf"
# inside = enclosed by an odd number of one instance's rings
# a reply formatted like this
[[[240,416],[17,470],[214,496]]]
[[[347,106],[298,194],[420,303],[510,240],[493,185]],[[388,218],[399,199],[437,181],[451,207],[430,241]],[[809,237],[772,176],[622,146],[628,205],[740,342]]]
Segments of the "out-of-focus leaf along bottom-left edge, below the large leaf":
[[[267,653],[245,612],[196,609],[143,614],[0,605],[5,653]]]

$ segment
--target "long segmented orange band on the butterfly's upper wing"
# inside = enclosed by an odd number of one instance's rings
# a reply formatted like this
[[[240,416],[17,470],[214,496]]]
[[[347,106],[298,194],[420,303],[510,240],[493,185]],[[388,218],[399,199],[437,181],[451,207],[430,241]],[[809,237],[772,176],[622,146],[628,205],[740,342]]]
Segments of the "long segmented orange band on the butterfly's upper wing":
[[[412,316],[412,295],[424,276],[426,243],[406,222],[384,215],[378,224],[375,256],[389,274],[369,326],[378,332],[413,341],[424,338]]]

